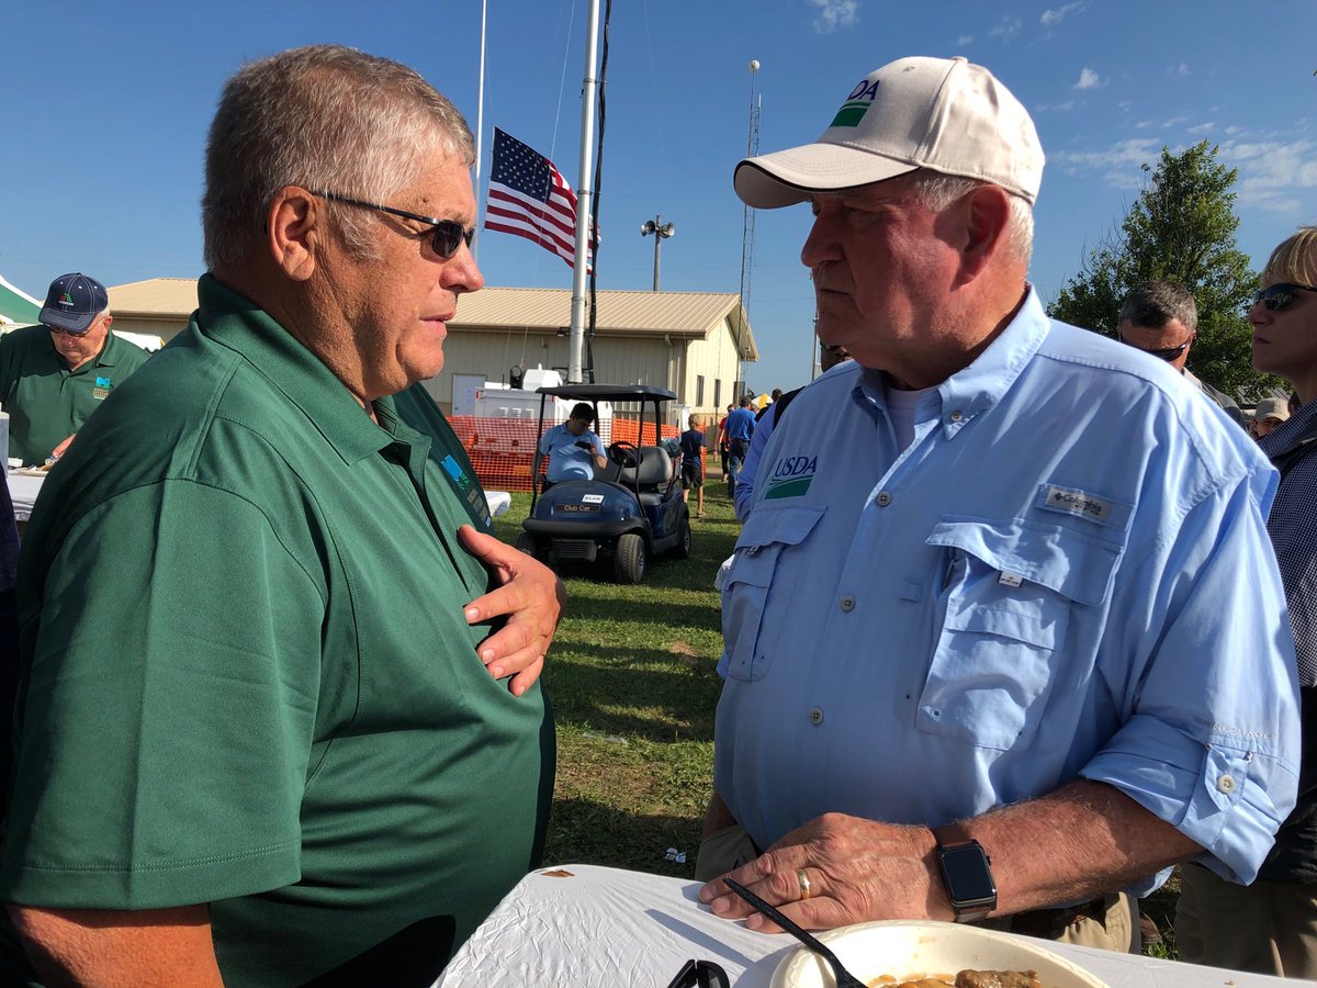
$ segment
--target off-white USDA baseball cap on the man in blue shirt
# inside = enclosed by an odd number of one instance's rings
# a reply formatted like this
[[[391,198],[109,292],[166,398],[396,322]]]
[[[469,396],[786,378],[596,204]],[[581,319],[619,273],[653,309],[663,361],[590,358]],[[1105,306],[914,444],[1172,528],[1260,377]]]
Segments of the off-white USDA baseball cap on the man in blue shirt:
[[[992,182],[1034,203],[1043,149],[1029,111],[986,69],[915,55],[865,76],[814,144],[741,161],[734,184],[748,206],[776,209],[915,169]]]

